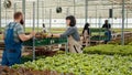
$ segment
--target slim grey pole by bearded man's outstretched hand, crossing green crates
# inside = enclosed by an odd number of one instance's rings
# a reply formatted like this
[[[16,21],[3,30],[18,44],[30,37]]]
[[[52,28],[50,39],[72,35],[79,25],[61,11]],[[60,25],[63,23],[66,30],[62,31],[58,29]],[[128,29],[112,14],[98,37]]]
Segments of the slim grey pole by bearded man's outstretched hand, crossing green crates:
[[[35,2],[33,2],[33,31],[35,31]],[[35,36],[33,38],[33,61],[35,60]]]

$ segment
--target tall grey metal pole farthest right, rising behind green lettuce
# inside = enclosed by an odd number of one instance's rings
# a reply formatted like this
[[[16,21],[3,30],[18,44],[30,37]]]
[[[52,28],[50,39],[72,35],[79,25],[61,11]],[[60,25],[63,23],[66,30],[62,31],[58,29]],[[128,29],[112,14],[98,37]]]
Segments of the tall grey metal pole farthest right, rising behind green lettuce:
[[[122,34],[121,34],[121,42],[124,45],[124,0],[122,0]]]

